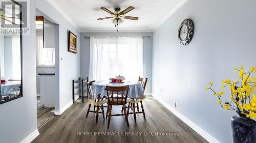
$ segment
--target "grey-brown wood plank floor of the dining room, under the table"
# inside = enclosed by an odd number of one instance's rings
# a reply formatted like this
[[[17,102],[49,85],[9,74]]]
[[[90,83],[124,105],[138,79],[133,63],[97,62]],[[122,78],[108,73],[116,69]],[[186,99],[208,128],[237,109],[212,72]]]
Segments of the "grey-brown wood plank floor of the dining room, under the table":
[[[95,113],[90,112],[86,119],[87,101],[86,98],[84,103],[75,103],[61,116],[53,117],[39,129],[40,135],[33,142],[207,142],[153,97],[143,100],[145,119],[142,114],[138,114],[135,124],[133,116],[129,115],[130,127],[127,127],[124,116],[112,117],[109,129],[108,122],[106,120],[103,122],[102,115],[99,115],[98,123],[95,121]],[[121,107],[113,107],[112,113],[120,113]],[[116,135],[100,136],[95,135],[95,132],[110,132]],[[146,132],[147,135],[143,135]],[[152,135],[148,135],[148,132]],[[157,136],[156,132],[179,133],[179,135]]]

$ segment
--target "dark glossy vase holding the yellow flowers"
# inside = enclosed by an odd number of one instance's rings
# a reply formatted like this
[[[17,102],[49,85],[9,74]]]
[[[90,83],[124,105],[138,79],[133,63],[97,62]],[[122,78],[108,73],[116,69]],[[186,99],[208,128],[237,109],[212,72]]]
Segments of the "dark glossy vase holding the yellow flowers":
[[[256,121],[238,113],[231,117],[233,143],[255,143]]]

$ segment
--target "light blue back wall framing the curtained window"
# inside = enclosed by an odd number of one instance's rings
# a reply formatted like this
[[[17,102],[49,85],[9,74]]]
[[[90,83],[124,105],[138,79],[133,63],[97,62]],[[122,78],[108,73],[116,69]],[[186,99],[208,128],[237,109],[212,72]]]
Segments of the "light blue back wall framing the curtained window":
[[[109,33],[81,33],[81,76],[89,77],[90,66],[90,38],[84,36],[120,36],[138,37],[151,36],[144,38],[144,77],[148,77],[145,93],[152,93],[152,33],[151,32],[109,32]],[[139,78],[139,77],[138,77]]]

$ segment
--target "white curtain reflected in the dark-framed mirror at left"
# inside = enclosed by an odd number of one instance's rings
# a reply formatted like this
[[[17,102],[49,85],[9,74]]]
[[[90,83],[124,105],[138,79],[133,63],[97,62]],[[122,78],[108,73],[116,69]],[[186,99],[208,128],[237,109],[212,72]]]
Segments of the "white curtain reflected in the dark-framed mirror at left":
[[[20,61],[20,37],[12,37],[12,69],[13,79],[21,79],[21,61]]]

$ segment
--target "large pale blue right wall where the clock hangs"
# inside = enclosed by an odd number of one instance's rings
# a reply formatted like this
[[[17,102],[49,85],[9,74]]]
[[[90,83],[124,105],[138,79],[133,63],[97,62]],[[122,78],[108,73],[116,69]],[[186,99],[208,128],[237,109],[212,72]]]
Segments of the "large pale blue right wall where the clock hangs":
[[[154,96],[172,107],[177,101],[178,112],[220,142],[232,142],[236,113],[221,108],[205,86],[213,81],[219,91],[222,79],[237,79],[233,68],[255,66],[255,9],[252,0],[188,0],[153,33]],[[194,21],[195,34],[182,46],[178,28],[186,18]]]

